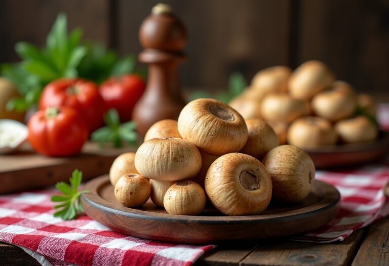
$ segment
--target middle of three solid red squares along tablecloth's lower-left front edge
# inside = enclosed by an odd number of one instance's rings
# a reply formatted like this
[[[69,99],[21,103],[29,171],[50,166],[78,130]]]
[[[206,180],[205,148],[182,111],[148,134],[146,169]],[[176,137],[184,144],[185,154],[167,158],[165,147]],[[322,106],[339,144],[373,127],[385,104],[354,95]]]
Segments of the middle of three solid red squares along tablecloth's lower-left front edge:
[[[96,245],[72,241],[66,248],[64,259],[75,264],[92,265],[96,249]]]

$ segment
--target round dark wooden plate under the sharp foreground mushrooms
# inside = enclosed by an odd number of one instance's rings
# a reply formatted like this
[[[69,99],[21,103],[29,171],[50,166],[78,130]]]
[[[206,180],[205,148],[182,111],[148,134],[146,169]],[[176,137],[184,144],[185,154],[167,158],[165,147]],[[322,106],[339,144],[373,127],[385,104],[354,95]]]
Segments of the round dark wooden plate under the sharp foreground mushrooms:
[[[151,201],[136,209],[122,206],[114,198],[107,175],[89,181],[85,189],[91,192],[81,197],[85,212],[114,231],[146,239],[197,244],[307,232],[333,219],[340,199],[333,186],[316,180],[312,192],[302,202],[282,207],[270,205],[260,215],[224,216],[207,207],[199,216],[184,216],[168,214]]]

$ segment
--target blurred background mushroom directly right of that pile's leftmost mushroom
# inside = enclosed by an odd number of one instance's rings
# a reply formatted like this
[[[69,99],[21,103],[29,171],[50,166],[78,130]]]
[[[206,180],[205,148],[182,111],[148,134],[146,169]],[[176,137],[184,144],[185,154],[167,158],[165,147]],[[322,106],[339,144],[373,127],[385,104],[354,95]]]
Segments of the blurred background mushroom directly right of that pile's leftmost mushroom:
[[[308,103],[286,93],[267,94],[260,105],[265,121],[291,123],[298,117],[309,114]]]

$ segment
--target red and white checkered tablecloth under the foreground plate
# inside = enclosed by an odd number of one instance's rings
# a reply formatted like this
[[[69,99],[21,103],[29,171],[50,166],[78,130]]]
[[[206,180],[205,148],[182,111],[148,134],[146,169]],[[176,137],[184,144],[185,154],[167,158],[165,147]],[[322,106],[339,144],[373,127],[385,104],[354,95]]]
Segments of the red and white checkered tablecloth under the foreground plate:
[[[389,129],[389,105],[379,106]],[[386,115],[385,115],[386,113]],[[317,179],[341,194],[338,216],[294,240],[341,241],[355,230],[389,215],[382,187],[389,163],[347,171],[318,171]],[[212,245],[162,243],[116,233],[86,215],[71,221],[53,217],[54,189],[0,196],[0,242],[23,248],[43,265],[191,265]]]

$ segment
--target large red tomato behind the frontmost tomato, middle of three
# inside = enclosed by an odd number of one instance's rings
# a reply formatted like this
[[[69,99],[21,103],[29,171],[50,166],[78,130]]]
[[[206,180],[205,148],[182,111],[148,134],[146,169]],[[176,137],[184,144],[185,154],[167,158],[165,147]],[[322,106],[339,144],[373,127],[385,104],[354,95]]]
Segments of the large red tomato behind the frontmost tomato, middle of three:
[[[39,108],[68,106],[84,118],[89,132],[103,124],[105,103],[97,85],[80,79],[61,79],[48,84],[42,92]]]

